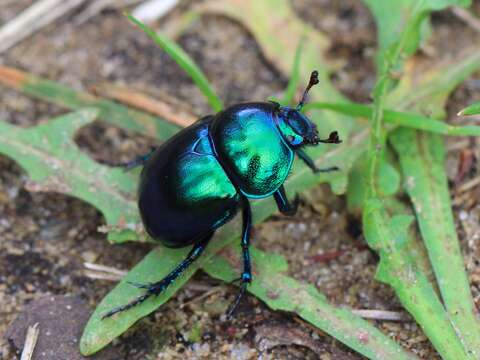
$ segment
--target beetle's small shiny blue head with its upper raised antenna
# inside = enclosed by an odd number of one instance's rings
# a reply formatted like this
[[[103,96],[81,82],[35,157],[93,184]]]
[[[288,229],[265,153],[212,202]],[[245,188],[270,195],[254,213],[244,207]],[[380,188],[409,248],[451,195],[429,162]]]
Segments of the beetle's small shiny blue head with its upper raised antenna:
[[[317,126],[301,113],[308,91],[316,84],[318,84],[318,72],[313,71],[298,105],[295,108],[281,106],[278,109],[280,132],[292,147],[317,145],[320,142]]]

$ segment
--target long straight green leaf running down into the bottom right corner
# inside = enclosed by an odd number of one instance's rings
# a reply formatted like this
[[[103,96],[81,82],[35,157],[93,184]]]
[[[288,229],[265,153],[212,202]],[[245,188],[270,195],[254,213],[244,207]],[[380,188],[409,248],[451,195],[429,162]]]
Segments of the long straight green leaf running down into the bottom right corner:
[[[455,231],[445,174],[442,139],[409,129],[392,133],[405,188],[413,202],[450,321],[474,358],[480,356],[480,327]]]

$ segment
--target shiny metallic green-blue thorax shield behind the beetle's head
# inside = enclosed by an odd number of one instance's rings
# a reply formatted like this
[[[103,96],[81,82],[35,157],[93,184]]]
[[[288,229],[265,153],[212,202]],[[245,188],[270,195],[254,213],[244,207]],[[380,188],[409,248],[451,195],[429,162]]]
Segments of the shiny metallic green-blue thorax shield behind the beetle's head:
[[[222,165],[248,197],[262,198],[287,178],[294,154],[274,122],[275,105],[232,106],[215,116],[212,139]]]

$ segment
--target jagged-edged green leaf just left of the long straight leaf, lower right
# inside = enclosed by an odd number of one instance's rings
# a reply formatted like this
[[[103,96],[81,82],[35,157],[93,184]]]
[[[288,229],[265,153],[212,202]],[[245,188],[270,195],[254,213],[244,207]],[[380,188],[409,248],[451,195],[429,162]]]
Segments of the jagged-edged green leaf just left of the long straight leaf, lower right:
[[[377,279],[392,286],[402,305],[421,325],[444,359],[467,356],[435,289],[409,250],[410,215],[387,215],[383,202],[370,198],[363,213],[363,230],[370,247],[380,254]]]

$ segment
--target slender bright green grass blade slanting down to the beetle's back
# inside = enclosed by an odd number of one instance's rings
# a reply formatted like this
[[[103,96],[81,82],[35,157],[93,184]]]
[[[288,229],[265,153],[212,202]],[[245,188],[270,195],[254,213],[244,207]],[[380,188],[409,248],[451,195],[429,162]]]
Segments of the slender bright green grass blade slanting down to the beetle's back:
[[[172,57],[175,62],[192,78],[193,82],[198,86],[200,91],[207,98],[214,112],[218,112],[223,109],[223,103],[217,96],[209,81],[199,69],[199,67],[193,62],[190,56],[175,42],[171,41],[165,36],[156,33],[153,29],[145,25],[138,19],[135,19],[132,15],[126,14],[127,18],[142,29],[145,34],[153,39],[168,55]]]

